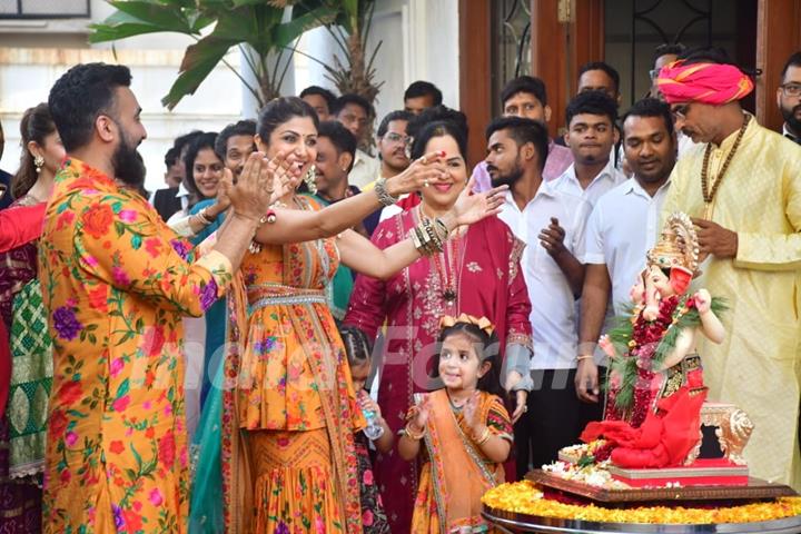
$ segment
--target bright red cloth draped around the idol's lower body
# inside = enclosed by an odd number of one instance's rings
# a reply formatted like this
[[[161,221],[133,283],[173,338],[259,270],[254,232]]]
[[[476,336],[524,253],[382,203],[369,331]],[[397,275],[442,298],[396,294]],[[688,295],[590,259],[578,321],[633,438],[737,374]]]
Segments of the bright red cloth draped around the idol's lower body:
[[[639,428],[623,421],[590,423],[581,439],[590,443],[603,436],[614,445],[612,463],[627,468],[661,468],[682,465],[701,438],[701,405],[706,389],[682,386],[649,411]]]

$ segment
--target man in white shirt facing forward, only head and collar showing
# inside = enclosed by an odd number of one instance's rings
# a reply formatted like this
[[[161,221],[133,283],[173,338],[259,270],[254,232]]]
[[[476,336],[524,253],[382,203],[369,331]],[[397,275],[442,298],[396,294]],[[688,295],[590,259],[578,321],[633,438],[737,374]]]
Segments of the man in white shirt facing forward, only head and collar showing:
[[[565,142],[573,152],[573,165],[554,181],[554,187],[595,206],[601,196],[626,177],[610,159],[617,141],[617,107],[606,93],[587,91],[567,105]]]

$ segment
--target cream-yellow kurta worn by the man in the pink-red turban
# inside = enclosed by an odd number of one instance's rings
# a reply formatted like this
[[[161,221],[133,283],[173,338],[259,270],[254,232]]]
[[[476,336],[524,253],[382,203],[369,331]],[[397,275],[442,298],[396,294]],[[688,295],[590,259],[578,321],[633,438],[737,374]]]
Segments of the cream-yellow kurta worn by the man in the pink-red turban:
[[[710,157],[711,179],[736,132]],[[701,169],[705,145],[673,169],[663,216],[681,210],[703,217]],[[726,337],[699,336],[710,400],[745,411],[754,431],[744,456],[753,476],[801,490],[798,449],[801,350],[801,147],[751,119],[722,178],[711,220],[738,233],[735,258],[711,257],[696,287],[728,300]]]

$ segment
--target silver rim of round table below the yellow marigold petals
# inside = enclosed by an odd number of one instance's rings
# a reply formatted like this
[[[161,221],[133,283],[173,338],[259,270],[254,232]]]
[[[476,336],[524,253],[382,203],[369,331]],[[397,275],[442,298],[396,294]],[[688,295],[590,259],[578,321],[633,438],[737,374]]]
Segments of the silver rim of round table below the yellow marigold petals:
[[[629,534],[798,534],[801,532],[801,516],[783,520],[758,521],[752,523],[725,523],[705,525],[656,525],[644,523],[597,523],[581,520],[558,520],[537,515],[517,514],[484,506],[482,516],[502,532],[508,533],[563,533],[605,534],[610,532]]]

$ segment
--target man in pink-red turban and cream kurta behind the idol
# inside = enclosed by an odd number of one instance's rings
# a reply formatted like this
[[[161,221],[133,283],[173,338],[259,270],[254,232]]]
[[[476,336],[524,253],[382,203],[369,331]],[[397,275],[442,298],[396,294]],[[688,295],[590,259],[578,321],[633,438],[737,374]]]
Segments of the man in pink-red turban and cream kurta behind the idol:
[[[801,490],[801,147],[742,111],[739,99],[753,85],[736,67],[690,57],[660,79],[676,128],[699,142],[673,170],[663,216],[694,218],[708,255],[696,286],[729,305],[724,342],[699,345],[709,398],[739,406],[754,423],[744,451],[753,476]]]

